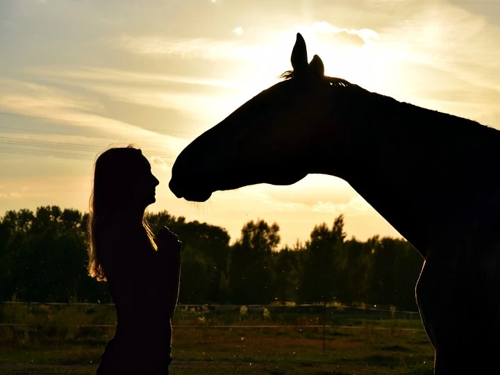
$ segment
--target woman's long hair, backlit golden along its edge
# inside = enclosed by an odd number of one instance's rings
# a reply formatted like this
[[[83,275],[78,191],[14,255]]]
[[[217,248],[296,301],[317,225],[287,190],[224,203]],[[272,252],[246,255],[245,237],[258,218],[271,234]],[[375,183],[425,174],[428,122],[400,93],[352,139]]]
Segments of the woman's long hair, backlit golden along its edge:
[[[97,157],[94,163],[94,179],[92,181],[92,192],[90,194],[88,221],[89,233],[89,263],[90,276],[99,281],[106,281],[102,260],[106,247],[103,247],[103,239],[106,235],[115,235],[110,228],[116,228],[122,213],[126,209],[126,202],[130,199],[131,181],[134,165],[142,158],[142,151],[133,144],[128,147],[113,147],[107,149]],[[142,219],[142,226],[156,249],[153,233],[146,220]],[[111,233],[110,233],[111,231]]]

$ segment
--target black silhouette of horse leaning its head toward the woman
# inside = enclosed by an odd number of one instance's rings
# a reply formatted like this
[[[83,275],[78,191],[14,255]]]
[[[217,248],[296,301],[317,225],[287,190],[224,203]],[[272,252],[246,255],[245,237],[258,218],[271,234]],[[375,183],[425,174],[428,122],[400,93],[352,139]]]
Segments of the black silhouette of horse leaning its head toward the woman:
[[[417,305],[435,374],[480,374],[500,353],[500,131],[324,75],[297,34],[292,71],[188,145],[178,198],[347,181],[424,257]]]

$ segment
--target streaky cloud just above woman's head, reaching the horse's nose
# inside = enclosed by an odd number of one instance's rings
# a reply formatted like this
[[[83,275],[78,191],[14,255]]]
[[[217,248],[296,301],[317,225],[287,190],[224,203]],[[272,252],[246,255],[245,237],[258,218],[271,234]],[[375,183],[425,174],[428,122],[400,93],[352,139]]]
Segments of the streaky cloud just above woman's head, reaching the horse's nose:
[[[62,126],[85,128],[87,133],[87,136],[40,135],[19,129],[17,133],[11,131],[1,135],[0,146],[4,152],[93,159],[98,151],[102,151],[103,145],[126,145],[134,142],[144,149],[157,150],[155,152],[159,156],[171,159],[187,144],[182,138],[158,134],[101,115],[103,106],[95,99],[49,86],[1,77],[0,111],[19,117],[35,117]]]

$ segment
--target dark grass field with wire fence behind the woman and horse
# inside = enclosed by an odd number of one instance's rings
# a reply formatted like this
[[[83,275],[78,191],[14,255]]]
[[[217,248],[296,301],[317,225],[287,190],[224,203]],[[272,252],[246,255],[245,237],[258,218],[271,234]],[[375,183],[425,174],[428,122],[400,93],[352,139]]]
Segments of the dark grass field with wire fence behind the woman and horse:
[[[1,308],[4,323],[28,325],[1,326],[0,374],[94,374],[114,333],[94,320],[114,324],[112,307]],[[173,375],[433,374],[420,320],[372,310],[188,306],[173,344]]]

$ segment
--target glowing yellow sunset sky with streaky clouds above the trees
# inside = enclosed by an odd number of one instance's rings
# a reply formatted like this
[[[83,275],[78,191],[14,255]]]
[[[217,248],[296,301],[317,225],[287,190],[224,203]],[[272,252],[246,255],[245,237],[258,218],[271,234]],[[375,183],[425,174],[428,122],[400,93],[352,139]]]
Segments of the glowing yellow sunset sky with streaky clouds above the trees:
[[[134,143],[160,180],[149,211],[222,226],[232,242],[265,219],[292,246],[340,214],[348,238],[401,237],[334,176],[206,203],[170,192],[178,153],[278,82],[297,32],[329,76],[500,128],[496,0],[0,0],[0,216],[88,212],[97,154]]]

